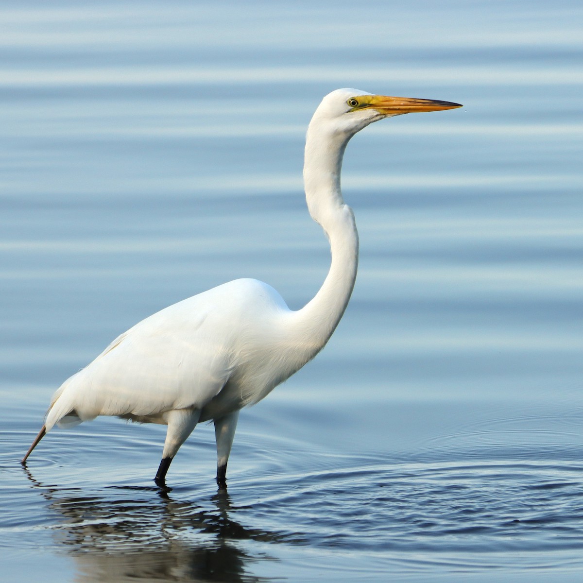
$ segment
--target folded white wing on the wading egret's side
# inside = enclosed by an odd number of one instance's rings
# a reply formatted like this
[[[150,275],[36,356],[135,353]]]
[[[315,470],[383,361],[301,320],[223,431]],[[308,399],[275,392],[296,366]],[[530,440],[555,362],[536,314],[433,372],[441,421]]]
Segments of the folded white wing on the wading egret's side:
[[[219,394],[233,366],[208,313],[193,315],[192,307],[187,300],[174,304],[118,336],[59,388],[47,430],[97,415],[145,417],[202,409]]]

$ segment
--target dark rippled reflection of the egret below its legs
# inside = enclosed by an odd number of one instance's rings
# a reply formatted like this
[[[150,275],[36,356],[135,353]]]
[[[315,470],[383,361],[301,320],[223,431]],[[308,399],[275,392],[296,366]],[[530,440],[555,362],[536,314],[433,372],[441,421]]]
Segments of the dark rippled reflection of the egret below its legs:
[[[61,515],[61,524],[53,527],[55,539],[75,560],[76,581],[82,583],[267,583],[273,580],[248,571],[251,564],[273,558],[249,552],[243,541],[288,538],[231,519],[226,490],[192,503],[156,487],[109,487],[92,495],[41,484],[30,470],[27,475],[50,510]]]

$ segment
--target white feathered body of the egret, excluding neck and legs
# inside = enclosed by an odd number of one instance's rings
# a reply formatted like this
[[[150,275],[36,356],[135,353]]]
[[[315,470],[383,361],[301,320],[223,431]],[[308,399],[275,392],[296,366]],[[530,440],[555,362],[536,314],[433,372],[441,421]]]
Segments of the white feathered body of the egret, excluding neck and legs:
[[[228,395],[219,399],[222,406],[211,407],[213,417],[257,402],[295,372],[297,359],[290,366],[273,362],[281,360],[290,313],[272,287],[252,279],[173,304],[118,336],[64,382],[53,397],[47,431],[98,415],[166,423],[165,412],[203,410],[223,388]]]

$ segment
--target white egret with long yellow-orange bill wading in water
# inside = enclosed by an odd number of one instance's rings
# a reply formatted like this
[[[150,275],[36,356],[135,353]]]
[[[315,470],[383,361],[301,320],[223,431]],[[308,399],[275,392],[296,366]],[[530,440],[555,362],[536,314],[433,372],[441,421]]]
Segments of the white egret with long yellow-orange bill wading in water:
[[[305,198],[332,253],[328,276],[315,297],[293,311],[266,283],[237,279],[142,320],[55,392],[22,464],[55,424],[72,427],[98,415],[114,415],[168,426],[154,478],[164,487],[178,448],[197,423],[213,420],[216,480],[226,487],[239,410],[261,401],[322,350],[352,294],[359,238],[352,209],[340,191],[349,139],[385,117],[456,107],[461,105],[357,89],[326,95],[305,140]]]

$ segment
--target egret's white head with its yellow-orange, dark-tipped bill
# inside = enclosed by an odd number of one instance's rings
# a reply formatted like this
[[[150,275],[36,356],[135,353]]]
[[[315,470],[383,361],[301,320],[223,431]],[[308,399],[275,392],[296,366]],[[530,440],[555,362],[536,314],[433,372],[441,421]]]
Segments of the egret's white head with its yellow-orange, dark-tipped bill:
[[[328,128],[333,133],[352,136],[373,121],[382,120],[385,117],[456,107],[462,106],[450,101],[388,97],[359,89],[336,89],[322,99],[322,103],[319,104],[312,118],[312,123],[320,128]]]

